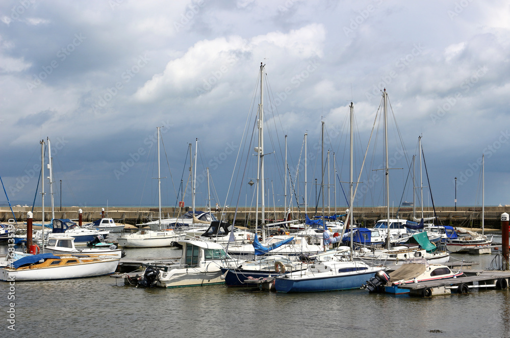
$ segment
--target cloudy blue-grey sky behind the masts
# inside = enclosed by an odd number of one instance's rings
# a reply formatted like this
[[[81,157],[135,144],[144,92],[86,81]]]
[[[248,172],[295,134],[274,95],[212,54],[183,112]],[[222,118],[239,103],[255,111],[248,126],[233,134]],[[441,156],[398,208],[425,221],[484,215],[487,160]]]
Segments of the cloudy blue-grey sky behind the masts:
[[[164,206],[191,205],[189,144],[196,205],[253,205],[263,63],[266,205],[347,205],[350,102],[355,205],[384,205],[385,88],[392,205],[413,200],[419,136],[424,205],[480,206],[482,155],[485,205],[510,204],[509,56],[499,0],[3,1],[0,176],[12,204],[40,205],[49,138],[57,205],[157,206],[161,127]]]

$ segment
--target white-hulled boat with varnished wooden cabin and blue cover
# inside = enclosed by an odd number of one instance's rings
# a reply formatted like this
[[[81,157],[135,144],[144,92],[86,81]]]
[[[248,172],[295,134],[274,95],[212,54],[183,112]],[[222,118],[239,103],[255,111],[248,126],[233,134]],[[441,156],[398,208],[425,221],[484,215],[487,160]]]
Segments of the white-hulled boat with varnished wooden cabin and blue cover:
[[[53,280],[109,275],[115,272],[120,257],[41,253],[22,257],[12,266],[0,269],[0,280]]]

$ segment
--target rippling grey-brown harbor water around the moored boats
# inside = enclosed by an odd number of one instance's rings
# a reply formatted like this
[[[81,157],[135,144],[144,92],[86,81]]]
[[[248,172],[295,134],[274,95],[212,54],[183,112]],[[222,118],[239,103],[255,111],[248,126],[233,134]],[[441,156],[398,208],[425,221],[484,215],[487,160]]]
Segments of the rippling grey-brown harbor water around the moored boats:
[[[7,246],[0,246],[6,253]],[[126,249],[179,257],[177,248]],[[491,255],[452,259],[491,266]],[[14,287],[14,291],[13,288]],[[225,285],[139,289],[109,276],[0,282],[1,337],[508,337],[510,292],[430,298],[366,290],[281,294]],[[9,300],[8,297],[15,298]],[[11,306],[14,303],[14,306]],[[14,308],[15,330],[9,326]]]

